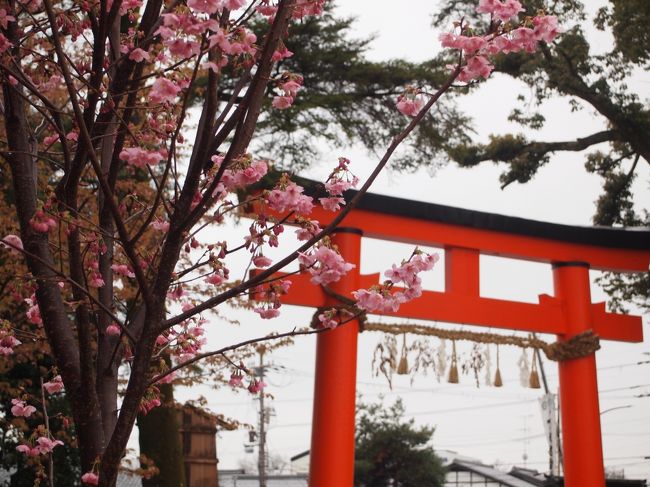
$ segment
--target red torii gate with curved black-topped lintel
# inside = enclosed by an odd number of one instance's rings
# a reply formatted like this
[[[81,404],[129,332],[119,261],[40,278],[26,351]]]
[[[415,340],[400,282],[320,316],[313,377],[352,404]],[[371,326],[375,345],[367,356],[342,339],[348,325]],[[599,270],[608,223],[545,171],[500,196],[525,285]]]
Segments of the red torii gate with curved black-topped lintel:
[[[315,212],[321,225],[335,216]],[[424,291],[393,316],[552,333],[559,340],[593,330],[605,340],[643,341],[640,317],[591,302],[589,269],[648,271],[650,231],[543,223],[376,194],[365,194],[342,225],[332,240],[356,268],[332,288],[345,296],[380,280],[359,273],[362,236],[444,248],[445,291]],[[481,297],[480,254],[551,264],[555,296],[540,295],[538,304]],[[283,303],[337,304],[310,277],[292,276]],[[317,338],[311,487],[353,484],[357,334],[351,322]],[[562,361],[559,372],[565,485],[604,486],[595,354]]]

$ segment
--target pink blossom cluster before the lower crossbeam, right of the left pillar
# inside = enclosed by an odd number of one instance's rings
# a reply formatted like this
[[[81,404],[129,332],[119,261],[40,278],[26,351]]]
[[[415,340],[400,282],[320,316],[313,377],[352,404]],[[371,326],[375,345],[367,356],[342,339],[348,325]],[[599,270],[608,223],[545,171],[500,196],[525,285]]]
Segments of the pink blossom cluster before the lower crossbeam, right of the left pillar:
[[[399,266],[393,264],[384,273],[388,279],[383,284],[353,292],[357,306],[371,313],[396,312],[403,303],[422,295],[422,280],[418,274],[431,270],[438,259],[438,254],[427,254],[416,249],[409,260]],[[396,287],[396,284],[403,287]]]

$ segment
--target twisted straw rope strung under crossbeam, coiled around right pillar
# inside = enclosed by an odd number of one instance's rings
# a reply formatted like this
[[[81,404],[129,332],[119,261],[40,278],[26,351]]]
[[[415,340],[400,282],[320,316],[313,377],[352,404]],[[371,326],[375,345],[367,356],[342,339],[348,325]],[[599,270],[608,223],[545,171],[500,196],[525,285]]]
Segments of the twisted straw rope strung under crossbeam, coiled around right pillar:
[[[535,337],[516,335],[499,335],[498,333],[474,332],[467,330],[446,330],[433,326],[413,325],[403,323],[365,323],[364,330],[380,331],[399,335],[412,333],[414,335],[435,336],[446,340],[469,340],[477,343],[493,343],[497,345],[513,345],[521,348],[542,350],[550,360],[563,361],[586,357],[600,349],[600,340],[592,330],[575,335],[566,341],[547,343]]]

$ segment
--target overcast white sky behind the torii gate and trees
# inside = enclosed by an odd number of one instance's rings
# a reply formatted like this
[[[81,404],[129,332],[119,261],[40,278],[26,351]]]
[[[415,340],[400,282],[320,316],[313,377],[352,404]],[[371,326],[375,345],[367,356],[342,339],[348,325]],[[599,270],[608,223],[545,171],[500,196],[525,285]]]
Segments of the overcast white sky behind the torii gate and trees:
[[[339,11],[359,17],[360,33],[374,32],[377,39],[371,56],[376,59],[406,57],[423,60],[438,49],[437,33],[430,28],[430,16],[436,2],[407,0],[399,6],[388,0],[354,0],[339,2]],[[588,2],[595,6],[598,2]],[[606,45],[606,36],[598,42]],[[650,77],[642,74],[635,84],[644,89],[644,98],[650,92]],[[495,76],[464,102],[475,117],[480,139],[489,133],[512,129],[506,122],[518,93],[525,87],[511,80]],[[601,128],[589,110],[571,114],[566,100],[552,100],[544,107],[552,123],[541,137],[563,140],[591,133]],[[357,148],[326,154],[328,161],[339,155],[352,159],[353,170],[364,176],[375,161]],[[326,169],[312,171],[312,176],[323,176]],[[583,158],[576,154],[557,155],[540,170],[527,185],[513,185],[506,191],[499,189],[501,170],[494,165],[482,165],[472,170],[452,166],[431,175],[421,171],[415,175],[384,174],[373,192],[412,199],[442,203],[462,208],[477,209],[524,218],[589,225],[594,201],[600,189],[600,180],[583,169]],[[649,171],[643,167],[643,176],[637,180],[638,204],[649,208]],[[409,246],[364,242],[362,272],[377,272],[399,261],[412,250]],[[388,257],[387,257],[388,256]],[[519,264],[519,265],[518,265]],[[551,272],[541,264],[520,264],[504,259],[483,259],[481,289],[485,295],[515,300],[535,301],[537,294],[552,294]],[[432,271],[427,286],[440,288],[442,272]],[[594,301],[602,300],[600,290],[593,289]],[[218,348],[244,339],[266,334],[272,330],[290,330],[310,320],[311,310],[286,308],[283,317],[275,322],[262,322],[252,313],[237,313],[242,326],[232,329],[215,323],[209,332],[209,349]],[[648,321],[644,324],[646,336]],[[552,340],[553,337],[547,337]],[[401,397],[409,417],[417,424],[436,427],[433,443],[438,449],[451,449],[473,456],[486,463],[526,465],[545,470],[548,466],[546,440],[542,434],[539,412],[539,390],[519,385],[516,361],[519,350],[502,351],[501,363],[505,386],[501,389],[476,388],[470,376],[463,376],[457,385],[437,382],[422,377],[411,386],[407,378],[398,377],[391,391],[385,380],[372,377],[370,362],[378,335],[365,333],[359,341],[358,389],[365,401],[374,401],[383,394],[388,402]],[[275,399],[270,401],[276,415],[271,420],[268,445],[272,455],[285,459],[309,448],[311,399],[313,394],[313,337],[298,339],[296,346],[274,353],[269,359],[275,365],[268,379],[268,391]],[[461,347],[466,354],[468,346]],[[648,339],[643,344],[604,343],[597,354],[601,410],[612,410],[602,416],[606,465],[625,469],[631,478],[650,479],[650,355]],[[494,352],[493,352],[494,353]],[[645,362],[638,365],[638,362]],[[555,364],[546,368],[551,388],[557,387]],[[184,391],[182,397],[196,397],[199,389]],[[257,404],[247,393],[233,394],[226,390],[201,389],[216,413],[256,423]],[[636,397],[639,395],[646,397]],[[627,407],[630,406],[630,407]],[[220,468],[236,468],[239,461],[252,459],[244,453],[244,432],[222,433],[218,439]]]

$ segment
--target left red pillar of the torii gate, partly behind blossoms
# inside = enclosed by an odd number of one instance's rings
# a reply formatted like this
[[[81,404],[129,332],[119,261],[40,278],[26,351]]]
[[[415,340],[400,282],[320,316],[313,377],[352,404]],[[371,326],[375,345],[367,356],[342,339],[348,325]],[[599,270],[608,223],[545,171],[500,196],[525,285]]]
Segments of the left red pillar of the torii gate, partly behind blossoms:
[[[346,262],[356,265],[331,285],[345,296],[359,289],[361,230],[338,228],[332,242]],[[339,304],[327,298],[326,305]],[[310,487],[354,484],[354,418],[359,323],[318,335],[309,466]]]

